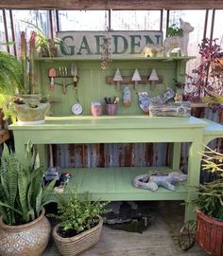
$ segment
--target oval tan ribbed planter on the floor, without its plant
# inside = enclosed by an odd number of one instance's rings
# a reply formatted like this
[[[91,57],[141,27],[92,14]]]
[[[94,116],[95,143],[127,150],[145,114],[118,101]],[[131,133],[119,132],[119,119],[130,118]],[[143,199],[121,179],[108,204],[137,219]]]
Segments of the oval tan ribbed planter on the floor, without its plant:
[[[92,229],[86,230],[82,233],[77,234],[76,236],[63,238],[60,237],[57,230],[60,227],[58,224],[53,229],[53,237],[60,251],[60,255],[62,256],[75,256],[83,251],[89,249],[90,247],[94,247],[94,245],[99,241],[100,234],[103,225],[103,219],[98,216],[99,223]]]

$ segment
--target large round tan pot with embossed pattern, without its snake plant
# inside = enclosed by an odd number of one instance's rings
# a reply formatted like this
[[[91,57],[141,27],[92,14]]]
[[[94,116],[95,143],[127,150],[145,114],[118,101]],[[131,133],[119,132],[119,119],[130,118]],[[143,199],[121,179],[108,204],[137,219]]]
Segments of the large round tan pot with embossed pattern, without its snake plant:
[[[50,237],[50,224],[42,214],[25,225],[9,226],[0,218],[1,256],[41,256]]]

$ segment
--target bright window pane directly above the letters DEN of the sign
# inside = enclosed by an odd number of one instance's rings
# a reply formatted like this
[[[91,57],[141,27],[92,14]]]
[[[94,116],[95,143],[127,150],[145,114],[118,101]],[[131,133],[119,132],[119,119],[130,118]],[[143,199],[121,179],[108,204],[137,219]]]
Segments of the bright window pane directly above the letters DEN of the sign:
[[[160,10],[113,10],[113,30],[160,30]]]

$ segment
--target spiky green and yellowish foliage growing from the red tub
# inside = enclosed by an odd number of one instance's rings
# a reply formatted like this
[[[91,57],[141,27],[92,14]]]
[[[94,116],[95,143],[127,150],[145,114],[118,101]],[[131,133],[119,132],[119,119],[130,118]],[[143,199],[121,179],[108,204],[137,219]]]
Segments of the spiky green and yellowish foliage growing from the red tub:
[[[202,168],[213,172],[217,179],[213,182],[197,186],[198,197],[193,202],[204,214],[223,220],[223,154],[206,147]]]

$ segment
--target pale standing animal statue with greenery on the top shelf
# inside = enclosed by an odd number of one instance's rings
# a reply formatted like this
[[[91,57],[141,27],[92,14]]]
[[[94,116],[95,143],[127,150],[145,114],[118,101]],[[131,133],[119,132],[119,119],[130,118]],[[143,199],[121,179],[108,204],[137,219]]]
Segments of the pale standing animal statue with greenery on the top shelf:
[[[188,22],[184,22],[180,19],[180,28],[182,29],[182,36],[169,36],[166,37],[163,42],[164,56],[168,56],[174,48],[180,48],[183,56],[188,55],[187,46],[189,42],[189,33],[194,30],[194,27]]]

